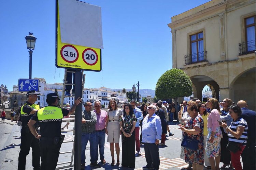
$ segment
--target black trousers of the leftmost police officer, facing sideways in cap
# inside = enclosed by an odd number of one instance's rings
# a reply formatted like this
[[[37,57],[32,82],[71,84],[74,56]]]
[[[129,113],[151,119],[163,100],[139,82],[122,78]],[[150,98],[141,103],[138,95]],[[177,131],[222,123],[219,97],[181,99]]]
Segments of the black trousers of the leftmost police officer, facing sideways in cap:
[[[30,132],[27,125],[21,130],[21,145],[19,152],[18,170],[26,169],[26,158],[29,154],[30,147],[32,148],[32,166],[34,170],[40,169],[40,147],[39,139],[35,138]]]

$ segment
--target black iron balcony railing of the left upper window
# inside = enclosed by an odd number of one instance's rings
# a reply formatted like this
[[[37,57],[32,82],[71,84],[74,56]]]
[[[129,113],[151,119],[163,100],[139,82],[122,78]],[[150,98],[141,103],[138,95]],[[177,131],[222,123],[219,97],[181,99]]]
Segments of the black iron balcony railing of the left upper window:
[[[207,51],[185,55],[185,65],[207,61]]]

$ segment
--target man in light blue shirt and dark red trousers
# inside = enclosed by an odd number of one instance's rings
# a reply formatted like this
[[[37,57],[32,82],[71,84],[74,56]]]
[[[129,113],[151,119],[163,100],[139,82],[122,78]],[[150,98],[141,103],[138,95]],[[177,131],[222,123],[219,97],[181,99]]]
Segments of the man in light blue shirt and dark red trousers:
[[[134,115],[137,118],[136,126],[135,126],[135,144],[136,144],[136,151],[138,155],[140,155],[140,139],[139,139],[139,134],[140,134],[140,120],[143,119],[143,115],[141,110],[136,107],[135,101],[131,101],[131,106],[133,108]]]

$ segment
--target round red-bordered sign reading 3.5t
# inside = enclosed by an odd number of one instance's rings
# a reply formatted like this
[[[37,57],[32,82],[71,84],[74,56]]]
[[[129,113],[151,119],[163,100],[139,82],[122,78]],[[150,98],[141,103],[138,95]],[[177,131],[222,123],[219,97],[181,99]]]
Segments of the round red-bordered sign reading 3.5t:
[[[72,45],[65,45],[60,50],[62,59],[68,63],[74,63],[79,57],[77,49]]]

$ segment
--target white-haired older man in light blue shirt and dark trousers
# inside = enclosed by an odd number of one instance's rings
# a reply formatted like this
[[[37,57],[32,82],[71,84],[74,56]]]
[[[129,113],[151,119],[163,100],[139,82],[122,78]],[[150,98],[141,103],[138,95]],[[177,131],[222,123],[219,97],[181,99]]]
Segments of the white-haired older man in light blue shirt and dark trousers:
[[[142,142],[147,165],[143,169],[159,169],[160,159],[158,152],[159,139],[162,135],[161,119],[155,114],[156,106],[151,104],[147,107],[148,115],[142,123]]]

